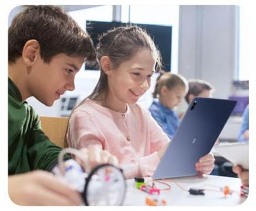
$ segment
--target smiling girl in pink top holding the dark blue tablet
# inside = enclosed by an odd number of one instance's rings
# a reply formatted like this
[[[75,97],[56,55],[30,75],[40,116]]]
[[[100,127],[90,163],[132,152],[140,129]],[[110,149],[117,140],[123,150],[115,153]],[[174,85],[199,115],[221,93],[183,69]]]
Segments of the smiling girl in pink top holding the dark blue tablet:
[[[116,155],[126,178],[151,176],[170,140],[136,102],[160,66],[159,51],[137,26],[109,30],[96,49],[100,78],[70,115],[68,144],[76,148],[99,144]],[[198,174],[209,174],[213,165],[213,155],[207,154],[195,168]]]

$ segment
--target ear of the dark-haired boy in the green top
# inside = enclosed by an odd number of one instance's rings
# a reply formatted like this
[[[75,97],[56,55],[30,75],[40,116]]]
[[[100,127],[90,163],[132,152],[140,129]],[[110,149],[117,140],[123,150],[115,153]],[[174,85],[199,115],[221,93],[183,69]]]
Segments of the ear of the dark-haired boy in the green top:
[[[22,58],[26,66],[30,67],[40,56],[40,45],[37,40],[28,40],[22,50]]]

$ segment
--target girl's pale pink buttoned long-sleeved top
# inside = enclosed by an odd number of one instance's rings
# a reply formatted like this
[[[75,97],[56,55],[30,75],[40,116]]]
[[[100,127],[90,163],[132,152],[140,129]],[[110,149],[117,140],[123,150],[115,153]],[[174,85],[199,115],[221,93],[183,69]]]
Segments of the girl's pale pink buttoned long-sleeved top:
[[[125,113],[100,106],[91,99],[75,109],[67,134],[70,147],[100,146],[116,155],[126,178],[153,175],[157,151],[170,141],[149,111],[127,105]]]

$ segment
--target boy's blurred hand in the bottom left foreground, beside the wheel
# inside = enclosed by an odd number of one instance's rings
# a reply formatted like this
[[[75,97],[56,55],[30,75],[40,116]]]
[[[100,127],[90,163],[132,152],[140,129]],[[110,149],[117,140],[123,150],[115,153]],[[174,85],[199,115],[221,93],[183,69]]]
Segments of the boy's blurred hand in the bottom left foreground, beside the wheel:
[[[41,170],[9,176],[8,192],[17,205],[83,205],[77,191]]]

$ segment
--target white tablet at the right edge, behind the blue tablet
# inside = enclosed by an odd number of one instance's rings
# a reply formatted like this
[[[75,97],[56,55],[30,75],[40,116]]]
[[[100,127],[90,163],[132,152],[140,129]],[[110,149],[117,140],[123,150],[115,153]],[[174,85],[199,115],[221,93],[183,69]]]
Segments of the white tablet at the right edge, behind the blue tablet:
[[[233,164],[241,165],[242,168],[249,168],[249,144],[243,143],[220,143],[214,146],[214,151],[226,158]]]

